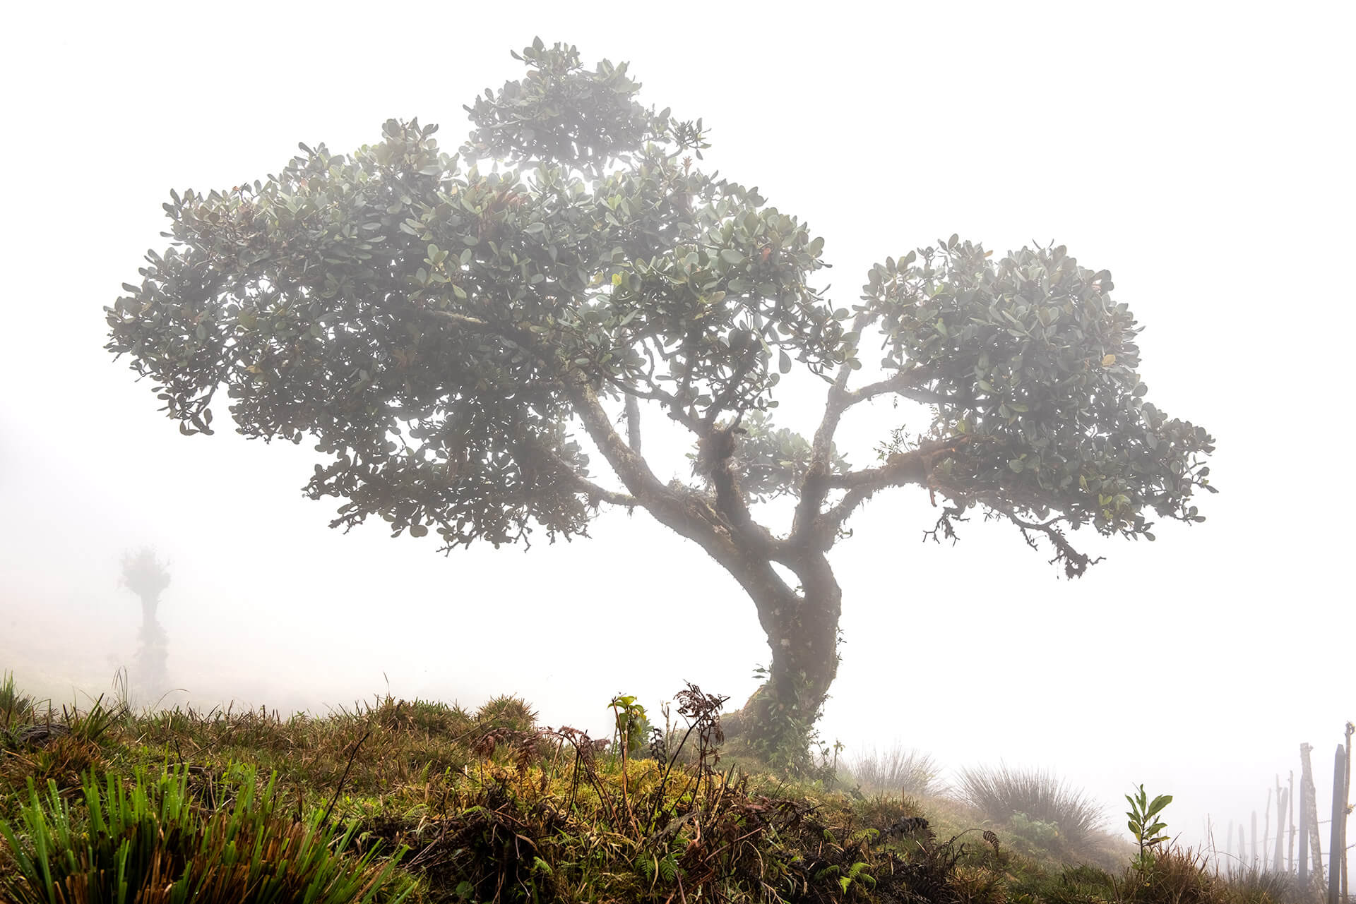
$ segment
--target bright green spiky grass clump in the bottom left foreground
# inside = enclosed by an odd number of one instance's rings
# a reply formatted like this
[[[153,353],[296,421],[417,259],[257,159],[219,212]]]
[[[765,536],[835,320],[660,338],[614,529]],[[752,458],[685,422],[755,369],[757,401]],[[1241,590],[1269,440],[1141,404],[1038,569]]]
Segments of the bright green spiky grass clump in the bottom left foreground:
[[[274,782],[258,787],[252,768],[237,767],[218,790],[228,802],[203,812],[187,768],[138,771],[132,787],[88,774],[72,808],[54,782],[39,794],[30,781],[20,829],[0,821],[15,862],[0,892],[14,904],[395,904],[411,893],[399,852],[377,866],[374,850],[346,852],[357,825],[279,816]]]

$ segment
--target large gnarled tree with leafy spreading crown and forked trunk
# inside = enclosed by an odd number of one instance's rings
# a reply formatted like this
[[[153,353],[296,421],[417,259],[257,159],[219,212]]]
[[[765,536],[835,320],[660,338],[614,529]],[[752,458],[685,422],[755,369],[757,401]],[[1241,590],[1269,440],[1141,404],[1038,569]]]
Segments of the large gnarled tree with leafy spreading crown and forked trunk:
[[[212,432],[225,386],[239,432],[319,440],[304,492],[343,500],[332,526],[380,515],[446,550],[644,508],[753,599],[772,665],[746,724],[765,743],[819,714],[842,596],[827,554],[877,492],[926,488],[933,538],[976,507],[1008,519],[1070,577],[1093,560],[1067,530],[1201,520],[1212,439],[1144,401],[1105,270],[953,236],[887,258],[835,308],[811,282],[823,239],[692,165],[701,119],[641,107],[624,64],[589,70],[540,39],[514,57],[526,77],[466,107],[457,155],[435,126],[389,121],[351,155],[301,145],[263,183],[171,192],[174,244],[107,309],[107,348],[182,432]],[[797,366],[824,382],[811,439],[770,417]],[[930,424],[853,468],[834,432],[883,397]],[[690,484],[641,455],[643,405],[692,432]],[[595,480],[580,430],[621,489]],[[795,515],[774,530],[754,510],[778,496]]]

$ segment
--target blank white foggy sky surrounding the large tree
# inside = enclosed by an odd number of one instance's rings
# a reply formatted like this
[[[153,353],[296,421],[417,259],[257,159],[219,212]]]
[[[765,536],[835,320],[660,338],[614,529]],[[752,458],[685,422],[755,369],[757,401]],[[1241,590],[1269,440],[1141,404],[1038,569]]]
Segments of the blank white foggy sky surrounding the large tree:
[[[509,50],[540,34],[632,61],[643,102],[704,117],[709,167],[826,237],[838,304],[872,262],[952,232],[1112,270],[1147,327],[1149,398],[1218,438],[1210,520],[1096,545],[1108,561],[1077,583],[978,519],[921,545],[926,496],[877,496],[833,554],[848,642],[827,739],[1048,767],[1109,813],[1144,782],[1191,840],[1207,813],[1261,810],[1310,741],[1329,812],[1356,717],[1351,4],[34,5],[0,54],[0,668],[20,683],[108,687],[140,618],[118,558],[152,543],[195,701],[323,712],[389,679],[606,731],[618,691],[658,713],[683,679],[732,705],[753,690],[753,604],[647,515],[526,554],[342,535],[298,492],[317,453],[186,439],[102,350],[102,308],[164,248],[171,187],[262,179],[297,141],[348,152],[388,117],[454,148],[461,106],[518,77]],[[815,403],[784,401],[786,426]],[[896,417],[848,426],[854,462]]]

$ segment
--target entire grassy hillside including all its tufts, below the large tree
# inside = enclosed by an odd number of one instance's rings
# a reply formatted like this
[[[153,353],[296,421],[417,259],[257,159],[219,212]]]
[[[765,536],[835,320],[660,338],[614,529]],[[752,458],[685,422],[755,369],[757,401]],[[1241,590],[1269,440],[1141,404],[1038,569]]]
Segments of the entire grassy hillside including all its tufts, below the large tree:
[[[1132,867],[1041,777],[968,774],[957,797],[898,752],[772,767],[724,737],[723,698],[674,702],[655,731],[618,698],[591,739],[511,697],[138,714],[9,682],[0,901],[1311,900],[1185,851]]]

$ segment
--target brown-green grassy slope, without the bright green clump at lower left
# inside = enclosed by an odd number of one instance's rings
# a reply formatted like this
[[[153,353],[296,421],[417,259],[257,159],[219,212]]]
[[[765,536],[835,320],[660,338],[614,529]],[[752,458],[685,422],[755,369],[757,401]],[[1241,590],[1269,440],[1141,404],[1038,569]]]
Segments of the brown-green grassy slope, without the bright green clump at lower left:
[[[1050,825],[994,825],[946,798],[862,794],[824,773],[776,775],[738,741],[704,744],[700,728],[681,748],[681,732],[669,739],[671,767],[647,752],[622,768],[570,729],[541,731],[514,698],[477,713],[385,698],[324,718],[100,706],[54,713],[57,729],[24,736],[47,712],[7,710],[3,697],[0,819],[11,824],[30,778],[79,801],[81,774],[130,779],[187,764],[190,796],[221,808],[232,770],[248,764],[277,775],[279,813],[300,823],[332,809],[335,823],[357,824],[353,855],[376,846],[380,863],[408,848],[400,869],[416,881],[416,901],[1295,897],[1256,877],[1214,881],[1185,855],[1134,874],[1127,848],[1105,836],[1074,848]],[[928,824],[881,835],[910,817]],[[0,871],[12,874],[4,848]]]

